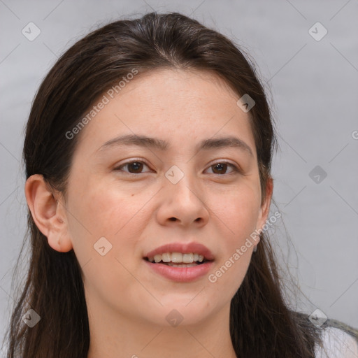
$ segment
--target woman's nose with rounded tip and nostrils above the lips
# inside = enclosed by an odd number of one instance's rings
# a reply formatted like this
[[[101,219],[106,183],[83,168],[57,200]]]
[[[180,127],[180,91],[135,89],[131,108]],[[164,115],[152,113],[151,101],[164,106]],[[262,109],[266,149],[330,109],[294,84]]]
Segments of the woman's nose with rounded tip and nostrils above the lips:
[[[161,205],[157,210],[159,224],[203,227],[208,222],[206,198],[189,176],[185,175],[176,184],[164,178],[161,195]]]

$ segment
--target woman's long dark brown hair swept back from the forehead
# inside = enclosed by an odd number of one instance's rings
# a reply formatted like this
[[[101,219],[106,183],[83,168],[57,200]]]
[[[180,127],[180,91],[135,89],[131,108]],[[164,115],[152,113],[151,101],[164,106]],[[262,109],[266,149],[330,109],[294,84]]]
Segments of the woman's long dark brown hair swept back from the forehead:
[[[228,38],[179,13],[112,22],[58,59],[36,94],[27,122],[26,178],[42,174],[50,188],[65,193],[79,137],[69,140],[66,133],[132,69],[143,73],[162,67],[212,71],[238,96],[248,94],[255,100],[250,124],[264,197],[276,142],[255,66]],[[29,270],[10,320],[8,357],[87,358],[90,331],[76,255],[50,248],[29,210],[28,229]],[[22,322],[29,308],[41,316],[32,328]],[[231,301],[230,315],[231,340],[239,357],[314,357],[319,336],[306,315],[288,308],[266,233]]]

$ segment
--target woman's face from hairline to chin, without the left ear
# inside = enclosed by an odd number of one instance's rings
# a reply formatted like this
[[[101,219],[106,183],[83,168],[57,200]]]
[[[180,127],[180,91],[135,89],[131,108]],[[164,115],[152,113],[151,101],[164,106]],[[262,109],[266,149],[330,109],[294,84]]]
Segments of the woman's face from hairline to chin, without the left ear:
[[[269,201],[262,206],[255,141],[237,100],[212,73],[161,69],[127,83],[82,129],[64,240],[91,309],[169,325],[174,309],[194,324],[229,307],[253,245],[237,250],[264,224]],[[190,252],[203,263],[150,262],[198,259]]]

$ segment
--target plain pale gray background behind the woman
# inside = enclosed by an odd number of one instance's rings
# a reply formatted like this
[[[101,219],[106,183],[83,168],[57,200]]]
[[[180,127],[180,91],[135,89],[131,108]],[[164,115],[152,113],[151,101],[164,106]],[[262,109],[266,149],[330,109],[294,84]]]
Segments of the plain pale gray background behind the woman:
[[[271,236],[283,271],[290,268],[306,296],[295,308],[319,308],[358,327],[357,0],[0,0],[0,338],[26,227],[21,150],[38,85],[59,54],[88,31],[153,9],[196,18],[243,45],[257,62],[280,143],[273,198],[283,222]],[[34,41],[22,34],[29,22],[41,29]],[[316,22],[328,31],[320,41],[308,32]],[[321,30],[313,27],[315,36]],[[319,182],[317,173],[309,175],[317,165],[327,173]]]

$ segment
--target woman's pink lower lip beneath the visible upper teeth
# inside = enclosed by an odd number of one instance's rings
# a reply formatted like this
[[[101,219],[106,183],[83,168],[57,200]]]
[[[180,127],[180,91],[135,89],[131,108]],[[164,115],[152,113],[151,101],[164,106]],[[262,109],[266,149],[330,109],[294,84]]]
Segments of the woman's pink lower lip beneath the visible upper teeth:
[[[192,282],[206,275],[213,264],[212,261],[192,267],[174,267],[164,264],[153,264],[144,260],[152,270],[169,280],[176,282]]]

